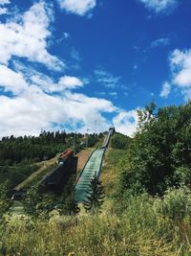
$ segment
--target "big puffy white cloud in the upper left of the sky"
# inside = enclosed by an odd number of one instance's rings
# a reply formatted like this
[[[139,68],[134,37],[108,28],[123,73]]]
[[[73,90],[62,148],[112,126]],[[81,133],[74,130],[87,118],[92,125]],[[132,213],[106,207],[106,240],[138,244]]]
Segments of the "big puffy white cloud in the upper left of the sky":
[[[62,69],[64,63],[47,51],[52,17],[44,2],[34,4],[23,16],[15,18],[18,20],[0,23],[0,62],[8,64],[16,56],[41,62],[54,70]]]

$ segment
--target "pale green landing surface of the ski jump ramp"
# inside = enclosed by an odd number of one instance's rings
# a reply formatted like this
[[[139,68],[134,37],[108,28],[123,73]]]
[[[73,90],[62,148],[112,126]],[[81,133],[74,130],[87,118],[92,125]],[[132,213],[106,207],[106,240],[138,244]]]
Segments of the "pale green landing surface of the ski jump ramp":
[[[81,175],[79,176],[74,187],[75,199],[77,202],[86,200],[87,190],[89,189],[89,185],[91,183],[93,176],[95,174],[97,176],[99,175],[104,152],[104,148],[96,149],[96,151],[92,153],[84,169],[82,170]]]

